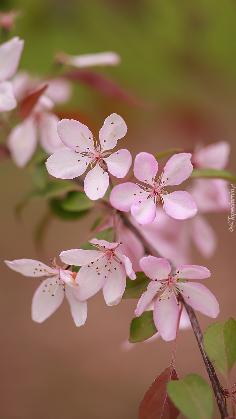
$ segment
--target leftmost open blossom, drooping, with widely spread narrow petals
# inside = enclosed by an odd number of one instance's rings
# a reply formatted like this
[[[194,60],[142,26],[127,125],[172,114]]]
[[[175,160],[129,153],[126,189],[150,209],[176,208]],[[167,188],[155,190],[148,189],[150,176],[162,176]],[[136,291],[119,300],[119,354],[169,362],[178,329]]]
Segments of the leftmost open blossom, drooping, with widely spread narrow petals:
[[[75,274],[65,270],[68,265],[61,268],[57,266],[55,259],[50,266],[33,259],[16,259],[5,261],[5,264],[25,277],[46,277],[36,289],[32,300],[31,316],[36,323],[42,323],[50,317],[60,307],[65,295],[75,325],[83,326],[87,318],[87,303],[75,300],[74,295],[80,286],[75,282]]]

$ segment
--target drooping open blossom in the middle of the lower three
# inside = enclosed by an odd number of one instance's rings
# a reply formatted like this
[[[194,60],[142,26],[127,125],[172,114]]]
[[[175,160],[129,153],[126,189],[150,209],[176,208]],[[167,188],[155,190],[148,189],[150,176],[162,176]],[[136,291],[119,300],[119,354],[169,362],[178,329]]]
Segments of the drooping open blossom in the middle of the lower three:
[[[76,300],[87,300],[102,288],[106,304],[117,305],[124,294],[126,276],[136,278],[130,259],[119,250],[122,243],[96,238],[90,243],[98,250],[72,249],[60,254],[64,263],[82,266],[76,277],[81,287]]]

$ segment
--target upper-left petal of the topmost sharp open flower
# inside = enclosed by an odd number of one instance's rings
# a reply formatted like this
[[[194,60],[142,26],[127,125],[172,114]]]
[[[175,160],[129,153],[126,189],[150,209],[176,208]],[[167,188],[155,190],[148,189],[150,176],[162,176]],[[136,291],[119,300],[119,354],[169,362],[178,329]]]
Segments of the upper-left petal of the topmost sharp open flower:
[[[85,152],[89,148],[94,150],[93,134],[86,125],[75,119],[62,119],[57,124],[60,139],[70,150]],[[77,147],[77,145],[79,147]]]

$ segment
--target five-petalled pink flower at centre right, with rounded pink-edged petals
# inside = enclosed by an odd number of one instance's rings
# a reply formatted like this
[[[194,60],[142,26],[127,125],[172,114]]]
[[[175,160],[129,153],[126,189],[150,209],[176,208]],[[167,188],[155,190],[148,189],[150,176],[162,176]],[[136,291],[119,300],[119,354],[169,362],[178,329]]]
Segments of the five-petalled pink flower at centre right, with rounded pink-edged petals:
[[[166,213],[177,220],[194,217],[197,213],[195,200],[186,191],[174,191],[168,194],[166,186],[179,185],[192,173],[190,153],[173,155],[155,180],[158,163],[149,153],[139,153],[135,157],[135,177],[149,187],[127,182],[112,189],[110,201],[120,211],[130,211],[141,225],[150,224],[156,217],[156,206],[163,204]]]

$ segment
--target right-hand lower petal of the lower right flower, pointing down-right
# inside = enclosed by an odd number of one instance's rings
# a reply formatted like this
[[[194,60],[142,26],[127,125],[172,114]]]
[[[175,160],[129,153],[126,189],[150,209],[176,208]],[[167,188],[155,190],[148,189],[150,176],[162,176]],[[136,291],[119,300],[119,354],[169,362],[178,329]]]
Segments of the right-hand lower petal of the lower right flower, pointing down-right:
[[[192,308],[209,317],[216,318],[218,316],[219,304],[215,296],[204,285],[199,282],[180,283],[179,289],[184,290],[183,297]]]

